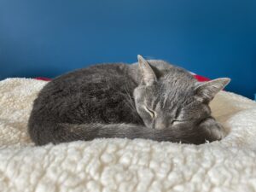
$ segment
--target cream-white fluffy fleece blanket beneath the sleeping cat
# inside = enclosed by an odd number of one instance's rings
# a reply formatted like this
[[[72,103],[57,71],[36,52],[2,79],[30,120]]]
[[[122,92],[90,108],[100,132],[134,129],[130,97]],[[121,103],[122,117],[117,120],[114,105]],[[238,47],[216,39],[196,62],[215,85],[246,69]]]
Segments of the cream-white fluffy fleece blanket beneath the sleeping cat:
[[[0,81],[0,191],[256,191],[256,102],[216,96],[212,112],[229,131],[221,142],[96,139],[35,147],[26,125],[44,84]]]

